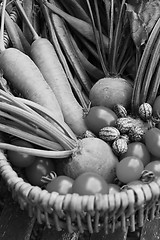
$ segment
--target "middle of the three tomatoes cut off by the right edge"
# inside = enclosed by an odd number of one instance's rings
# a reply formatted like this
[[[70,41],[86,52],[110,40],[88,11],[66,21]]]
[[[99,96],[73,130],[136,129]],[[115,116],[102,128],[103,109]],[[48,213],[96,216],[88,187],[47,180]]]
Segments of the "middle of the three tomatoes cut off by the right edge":
[[[144,141],[148,151],[155,157],[160,157],[160,129],[153,127],[144,135]]]

